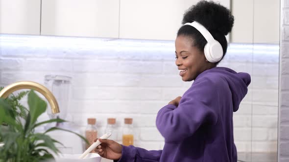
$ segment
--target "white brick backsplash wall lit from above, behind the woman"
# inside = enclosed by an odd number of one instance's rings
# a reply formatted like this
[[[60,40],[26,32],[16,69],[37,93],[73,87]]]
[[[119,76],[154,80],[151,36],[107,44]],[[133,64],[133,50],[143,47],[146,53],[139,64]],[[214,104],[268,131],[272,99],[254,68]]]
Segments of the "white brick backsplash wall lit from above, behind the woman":
[[[252,77],[234,114],[239,152],[276,152],[278,53],[278,45],[231,44],[220,63]],[[117,118],[119,131],[123,118],[132,117],[135,145],[161,149],[164,139],[155,127],[156,114],[192,84],[178,76],[174,57],[172,41],[2,35],[0,85],[23,80],[43,84],[47,74],[69,75],[69,112],[82,130],[89,117],[96,117],[100,134],[108,117]]]

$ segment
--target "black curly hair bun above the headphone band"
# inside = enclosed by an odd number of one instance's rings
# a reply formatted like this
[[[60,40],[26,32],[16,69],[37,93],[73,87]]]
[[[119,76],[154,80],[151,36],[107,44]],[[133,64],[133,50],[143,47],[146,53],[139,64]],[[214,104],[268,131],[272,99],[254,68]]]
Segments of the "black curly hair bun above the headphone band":
[[[202,0],[190,7],[184,14],[182,23],[197,21],[209,31],[227,35],[231,32],[234,16],[231,11],[214,1]]]

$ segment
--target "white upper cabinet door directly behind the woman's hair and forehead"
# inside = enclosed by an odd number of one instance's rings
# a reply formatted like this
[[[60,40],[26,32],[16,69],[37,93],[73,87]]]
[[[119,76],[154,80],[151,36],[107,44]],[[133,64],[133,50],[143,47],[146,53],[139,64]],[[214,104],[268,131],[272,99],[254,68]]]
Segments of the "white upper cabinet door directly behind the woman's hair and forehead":
[[[120,0],[120,38],[175,40],[183,14],[199,0]],[[217,0],[230,7],[230,0]]]

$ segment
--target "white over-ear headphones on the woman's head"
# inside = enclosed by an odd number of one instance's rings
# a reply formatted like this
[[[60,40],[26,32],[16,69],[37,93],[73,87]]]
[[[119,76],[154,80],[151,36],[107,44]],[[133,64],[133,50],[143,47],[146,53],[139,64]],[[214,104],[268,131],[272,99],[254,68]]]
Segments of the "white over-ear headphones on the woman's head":
[[[209,62],[217,62],[220,61],[223,57],[223,48],[221,44],[214,39],[211,33],[200,23],[193,21],[192,23],[188,22],[184,25],[191,25],[195,29],[197,29],[204,38],[208,41],[205,45],[204,53],[205,57]]]

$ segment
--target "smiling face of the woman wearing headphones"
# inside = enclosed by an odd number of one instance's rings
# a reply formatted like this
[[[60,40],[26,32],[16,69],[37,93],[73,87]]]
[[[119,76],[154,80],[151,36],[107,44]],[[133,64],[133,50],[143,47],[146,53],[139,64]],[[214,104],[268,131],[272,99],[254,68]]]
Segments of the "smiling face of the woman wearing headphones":
[[[200,73],[214,66],[206,61],[204,52],[192,45],[190,37],[180,35],[175,40],[176,65],[183,81],[193,81]]]

